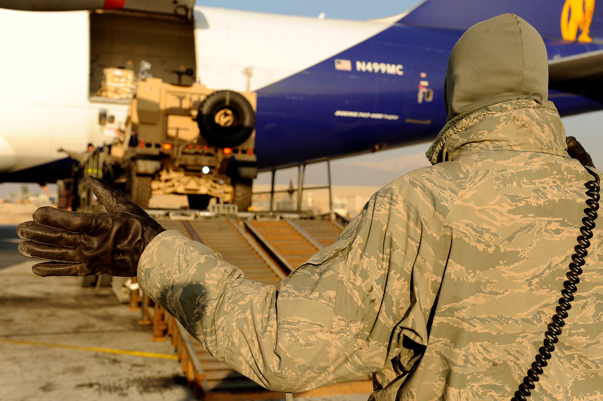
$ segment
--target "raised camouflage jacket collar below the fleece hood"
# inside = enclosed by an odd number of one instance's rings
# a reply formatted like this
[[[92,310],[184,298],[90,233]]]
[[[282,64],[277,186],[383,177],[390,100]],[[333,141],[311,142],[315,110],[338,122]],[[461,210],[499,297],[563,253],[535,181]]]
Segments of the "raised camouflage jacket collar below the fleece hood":
[[[552,102],[522,99],[481,108],[447,124],[427,155],[432,164],[500,150],[569,157],[565,138],[563,123]]]

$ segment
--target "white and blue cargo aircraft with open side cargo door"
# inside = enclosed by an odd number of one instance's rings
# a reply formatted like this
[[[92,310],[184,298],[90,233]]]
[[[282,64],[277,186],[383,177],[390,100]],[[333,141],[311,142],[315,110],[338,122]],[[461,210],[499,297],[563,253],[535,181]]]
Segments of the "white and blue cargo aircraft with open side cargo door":
[[[201,1],[202,2],[202,1]],[[561,116],[603,109],[603,0],[425,0],[374,20],[283,16],[194,0],[0,0],[0,181],[54,182],[57,149],[103,145],[127,102],[95,96],[106,67],[257,95],[259,169],[403,146],[446,123],[456,40],[515,13],[549,55]],[[54,11],[54,12],[45,12]]]

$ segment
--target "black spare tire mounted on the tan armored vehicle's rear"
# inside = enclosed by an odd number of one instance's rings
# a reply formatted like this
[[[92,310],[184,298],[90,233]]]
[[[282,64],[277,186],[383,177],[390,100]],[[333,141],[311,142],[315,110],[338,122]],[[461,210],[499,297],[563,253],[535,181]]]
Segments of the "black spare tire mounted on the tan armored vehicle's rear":
[[[220,90],[207,96],[199,107],[197,123],[210,145],[232,148],[241,145],[253,132],[256,114],[239,93]]]

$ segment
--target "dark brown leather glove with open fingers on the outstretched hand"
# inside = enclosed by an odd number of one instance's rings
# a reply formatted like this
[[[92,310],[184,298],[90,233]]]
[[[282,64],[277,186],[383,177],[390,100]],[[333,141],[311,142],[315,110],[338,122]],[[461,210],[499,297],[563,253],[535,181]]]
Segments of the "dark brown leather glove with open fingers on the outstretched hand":
[[[145,247],[165,229],[121,191],[102,179],[88,177],[90,188],[108,213],[81,213],[49,206],[21,223],[17,235],[25,241],[19,252],[51,262],[34,264],[36,275],[136,276]]]

